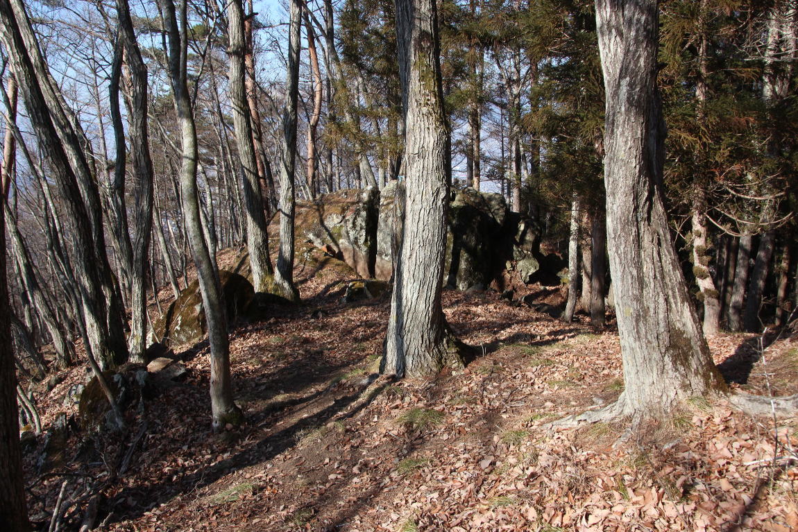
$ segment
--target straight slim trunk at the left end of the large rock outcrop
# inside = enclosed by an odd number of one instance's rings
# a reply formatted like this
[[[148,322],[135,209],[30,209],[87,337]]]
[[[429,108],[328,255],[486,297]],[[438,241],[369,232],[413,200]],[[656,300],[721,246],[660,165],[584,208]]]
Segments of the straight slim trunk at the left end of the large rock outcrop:
[[[280,172],[280,250],[275,285],[282,297],[299,300],[294,286],[294,173],[297,159],[297,104],[299,97],[299,37],[302,29],[300,0],[290,0],[286,104],[282,110],[282,167]]]

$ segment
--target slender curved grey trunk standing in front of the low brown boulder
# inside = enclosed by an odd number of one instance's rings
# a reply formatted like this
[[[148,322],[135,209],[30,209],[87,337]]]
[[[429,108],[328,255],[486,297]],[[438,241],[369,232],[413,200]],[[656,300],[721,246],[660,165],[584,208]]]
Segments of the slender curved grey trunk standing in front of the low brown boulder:
[[[180,140],[183,164],[180,167],[180,199],[183,203],[186,232],[202,293],[203,309],[207,321],[208,341],[211,345],[211,413],[213,428],[220,430],[226,424],[240,424],[243,416],[233,402],[230,376],[230,341],[227,337],[227,318],[224,315],[223,294],[219,272],[207,250],[199,214],[197,190],[197,134],[191,99],[188,95],[187,56],[188,22],[187,0],[180,2],[180,29],[175,4],[160,0],[164,27],[168,35],[168,69],[175,97],[177,118],[180,123]]]

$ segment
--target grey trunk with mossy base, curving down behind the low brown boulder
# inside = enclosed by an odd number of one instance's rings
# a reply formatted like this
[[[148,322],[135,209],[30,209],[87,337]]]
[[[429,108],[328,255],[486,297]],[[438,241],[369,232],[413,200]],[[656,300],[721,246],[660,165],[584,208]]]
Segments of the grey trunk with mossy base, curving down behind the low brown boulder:
[[[247,100],[246,65],[247,40],[244,32],[242,0],[227,2],[227,34],[230,46],[230,99],[235,127],[235,141],[239,148],[243,175],[244,203],[247,205],[247,249],[255,292],[271,292],[274,270],[269,258],[269,233],[263,194],[258,174],[257,154],[252,139],[251,109]]]

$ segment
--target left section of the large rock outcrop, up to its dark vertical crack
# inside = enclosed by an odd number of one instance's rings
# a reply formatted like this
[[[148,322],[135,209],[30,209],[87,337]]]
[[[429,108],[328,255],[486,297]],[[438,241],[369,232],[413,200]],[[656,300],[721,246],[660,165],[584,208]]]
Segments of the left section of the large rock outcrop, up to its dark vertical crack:
[[[295,235],[327,248],[362,277],[374,277],[380,191],[375,187],[341,190],[313,202],[298,203]]]

